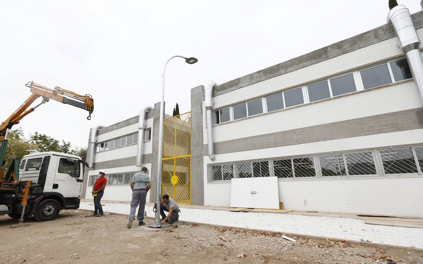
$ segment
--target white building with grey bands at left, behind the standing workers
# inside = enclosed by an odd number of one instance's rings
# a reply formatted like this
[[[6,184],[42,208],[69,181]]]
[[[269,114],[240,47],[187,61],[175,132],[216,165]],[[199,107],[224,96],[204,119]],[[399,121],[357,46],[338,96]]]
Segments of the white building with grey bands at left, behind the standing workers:
[[[152,170],[154,123],[158,124],[159,121],[159,106],[160,103],[156,103],[154,109],[146,112],[143,131],[140,131],[140,115],[113,125],[91,129],[87,150],[91,168],[85,170],[83,198],[91,198],[92,186],[99,170],[103,169],[106,172],[107,186],[102,199],[131,201],[132,192],[129,184],[132,176],[144,166],[149,172]],[[93,130],[96,131],[94,137],[92,137]],[[143,135],[141,150],[139,149],[141,142],[138,140],[140,135]],[[93,153],[92,146],[95,146]],[[157,153],[157,145],[155,147]],[[138,151],[142,154],[141,160],[137,160]],[[150,201],[150,197],[154,197],[151,196],[151,191],[147,195],[147,202]]]

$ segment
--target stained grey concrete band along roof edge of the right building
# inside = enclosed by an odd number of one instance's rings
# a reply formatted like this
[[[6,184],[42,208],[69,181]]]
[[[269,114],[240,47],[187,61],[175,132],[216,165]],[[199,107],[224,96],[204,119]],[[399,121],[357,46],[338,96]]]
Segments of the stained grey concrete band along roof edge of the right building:
[[[416,29],[423,27],[423,11],[412,14],[411,17]],[[296,71],[298,69],[320,63],[324,60],[329,60],[342,54],[346,54],[354,50],[362,49],[390,38],[394,38],[395,36],[396,35],[392,24],[384,24],[365,33],[347,38],[343,41],[339,41],[321,49],[317,49],[313,52],[309,52],[302,56],[287,60],[283,63],[279,63],[270,66],[269,68],[247,74],[224,84],[217,85],[213,88],[213,96],[228,93],[233,90],[255,84],[257,82],[261,82],[291,71]]]

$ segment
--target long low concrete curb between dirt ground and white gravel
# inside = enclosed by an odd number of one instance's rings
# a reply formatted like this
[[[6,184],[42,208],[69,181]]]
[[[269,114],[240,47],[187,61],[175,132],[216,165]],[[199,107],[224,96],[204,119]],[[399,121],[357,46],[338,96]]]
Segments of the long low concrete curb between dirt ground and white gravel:
[[[81,209],[80,211],[90,211],[90,212],[94,212],[94,210],[86,210],[86,209]],[[121,213],[114,213],[114,212],[110,212],[110,214],[112,215],[124,215],[126,217],[128,217],[128,214],[121,214]],[[154,220],[154,218],[146,216],[144,217],[146,219],[150,219],[150,220]],[[313,236],[313,235],[306,235],[306,234],[295,234],[295,233],[286,233],[286,232],[276,232],[276,231],[269,231],[269,230],[262,230],[262,229],[252,229],[252,228],[242,228],[242,227],[237,227],[237,226],[222,226],[222,225],[214,225],[214,224],[208,224],[208,223],[199,223],[199,222],[190,222],[190,221],[183,221],[183,220],[179,220],[179,222],[183,223],[184,225],[190,226],[192,224],[198,224],[198,225],[203,225],[203,226],[211,226],[211,227],[217,227],[217,228],[232,228],[232,229],[240,229],[240,230],[244,230],[244,231],[254,231],[254,232],[258,232],[258,233],[281,233],[281,234],[285,234],[288,237],[302,237],[302,238],[307,238],[307,239],[311,239],[311,240],[325,240],[327,238],[330,238],[331,240],[333,240],[334,242],[342,242],[342,241],[346,241],[350,244],[354,244],[354,245],[359,245],[365,248],[380,248],[380,249],[384,249],[384,250],[389,250],[389,249],[401,249],[401,250],[412,250],[415,251],[417,253],[422,253],[423,254],[423,248],[415,248],[415,247],[404,247],[404,246],[398,246],[398,245],[389,245],[389,244],[379,244],[379,243],[373,243],[373,242],[362,242],[362,241],[357,241],[357,240],[346,240],[346,239],[339,239],[339,238],[335,238],[335,237],[319,237],[319,236]]]

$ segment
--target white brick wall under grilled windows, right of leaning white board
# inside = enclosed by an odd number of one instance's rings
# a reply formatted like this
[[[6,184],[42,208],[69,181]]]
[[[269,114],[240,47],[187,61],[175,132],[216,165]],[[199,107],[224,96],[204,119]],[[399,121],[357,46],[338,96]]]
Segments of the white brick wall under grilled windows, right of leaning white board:
[[[423,217],[423,177],[281,180],[286,209]]]

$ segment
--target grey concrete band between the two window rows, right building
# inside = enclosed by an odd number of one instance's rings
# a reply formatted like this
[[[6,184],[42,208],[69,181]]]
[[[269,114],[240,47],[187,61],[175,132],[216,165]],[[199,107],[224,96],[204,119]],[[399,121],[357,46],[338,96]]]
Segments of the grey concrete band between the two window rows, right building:
[[[416,108],[241,139],[214,142],[214,152],[215,154],[225,154],[422,128],[423,109]],[[207,156],[207,144],[203,144],[202,153],[203,156]]]

